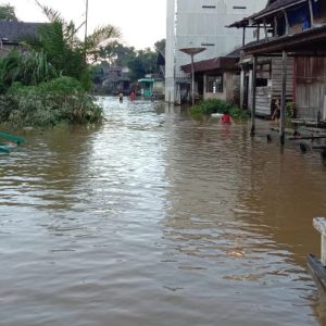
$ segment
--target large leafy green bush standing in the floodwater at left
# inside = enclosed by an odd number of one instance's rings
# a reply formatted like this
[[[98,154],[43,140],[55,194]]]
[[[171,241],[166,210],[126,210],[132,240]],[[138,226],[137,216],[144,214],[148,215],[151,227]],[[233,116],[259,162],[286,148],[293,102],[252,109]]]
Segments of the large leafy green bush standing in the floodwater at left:
[[[59,77],[38,86],[15,83],[0,97],[0,117],[15,126],[55,126],[61,123],[101,121],[102,109],[93,102],[80,83]]]

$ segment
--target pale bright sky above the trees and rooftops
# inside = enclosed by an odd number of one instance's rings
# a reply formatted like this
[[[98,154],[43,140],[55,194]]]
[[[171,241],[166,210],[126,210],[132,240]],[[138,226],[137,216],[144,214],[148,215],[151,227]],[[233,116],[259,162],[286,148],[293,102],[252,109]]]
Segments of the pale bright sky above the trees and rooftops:
[[[35,0],[3,0],[15,8],[22,22],[47,22]],[[86,0],[39,0],[41,4],[55,9],[76,26],[85,21]],[[165,0],[88,0],[88,30],[111,24],[120,27],[125,46],[137,50],[153,48],[165,38]],[[84,36],[84,30],[83,34]]]

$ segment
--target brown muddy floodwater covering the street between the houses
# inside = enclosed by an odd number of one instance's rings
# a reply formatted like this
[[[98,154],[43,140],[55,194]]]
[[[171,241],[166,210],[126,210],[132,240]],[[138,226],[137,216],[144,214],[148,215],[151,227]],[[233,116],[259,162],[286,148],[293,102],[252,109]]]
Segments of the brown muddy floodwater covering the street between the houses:
[[[326,325],[318,154],[102,98],[0,155],[0,325]]]

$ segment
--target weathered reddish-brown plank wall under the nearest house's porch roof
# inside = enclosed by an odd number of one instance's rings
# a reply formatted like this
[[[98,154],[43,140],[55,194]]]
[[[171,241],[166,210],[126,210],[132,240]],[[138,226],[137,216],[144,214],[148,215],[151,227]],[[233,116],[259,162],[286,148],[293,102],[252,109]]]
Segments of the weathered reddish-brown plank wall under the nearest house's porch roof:
[[[296,58],[296,106],[298,117],[323,115],[326,95],[326,58]]]

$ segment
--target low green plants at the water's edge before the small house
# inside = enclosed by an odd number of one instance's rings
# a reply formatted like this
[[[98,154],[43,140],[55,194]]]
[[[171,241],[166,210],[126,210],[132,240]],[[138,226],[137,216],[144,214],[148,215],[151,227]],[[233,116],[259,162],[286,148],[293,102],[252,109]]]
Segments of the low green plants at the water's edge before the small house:
[[[225,111],[235,118],[248,118],[249,116],[247,111],[241,111],[237,106],[220,99],[201,101],[199,104],[196,104],[190,109],[190,115],[199,117],[202,115],[210,115],[212,113],[223,113]]]

